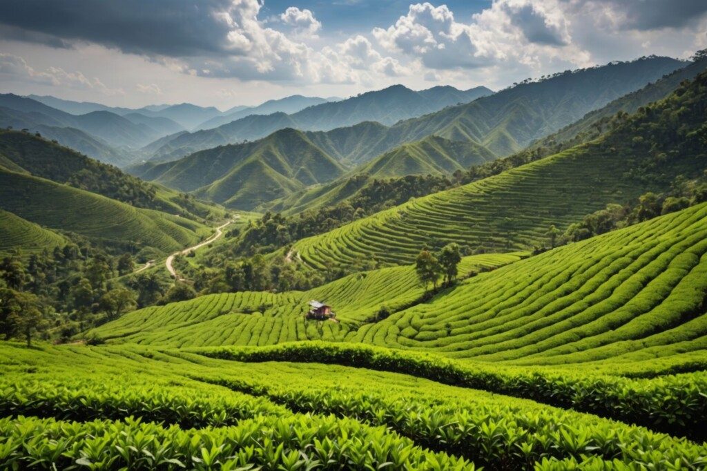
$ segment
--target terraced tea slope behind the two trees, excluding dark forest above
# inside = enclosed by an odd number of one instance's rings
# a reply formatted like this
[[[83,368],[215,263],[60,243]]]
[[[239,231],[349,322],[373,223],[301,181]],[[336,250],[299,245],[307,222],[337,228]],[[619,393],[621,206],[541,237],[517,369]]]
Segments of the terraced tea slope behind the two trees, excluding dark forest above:
[[[602,151],[600,144],[587,144],[415,199],[300,240],[294,248],[313,269],[358,259],[407,264],[423,245],[441,248],[452,242],[489,252],[528,250],[547,243],[551,224],[564,230],[608,203],[662,190],[670,174],[683,173],[685,165],[703,163],[686,159],[666,168],[662,182],[634,181],[625,178],[626,161]]]

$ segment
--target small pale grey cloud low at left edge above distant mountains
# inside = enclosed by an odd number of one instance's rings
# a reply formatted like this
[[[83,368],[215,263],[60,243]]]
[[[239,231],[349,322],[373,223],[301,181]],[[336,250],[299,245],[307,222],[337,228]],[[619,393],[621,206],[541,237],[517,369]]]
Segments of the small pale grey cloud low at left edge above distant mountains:
[[[29,81],[40,85],[62,86],[83,90],[93,90],[104,95],[122,95],[119,88],[108,88],[98,78],[88,79],[80,71],[67,72],[60,67],[49,67],[37,71],[25,59],[14,54],[0,53],[0,76],[16,81]]]

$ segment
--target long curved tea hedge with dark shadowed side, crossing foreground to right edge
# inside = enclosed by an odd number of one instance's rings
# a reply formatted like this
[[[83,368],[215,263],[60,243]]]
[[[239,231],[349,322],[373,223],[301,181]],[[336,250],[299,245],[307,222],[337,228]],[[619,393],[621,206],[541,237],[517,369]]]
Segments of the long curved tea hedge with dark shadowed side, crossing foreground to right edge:
[[[222,347],[198,353],[235,361],[305,361],[406,373],[449,385],[499,392],[704,440],[707,373],[633,380],[525,368],[464,365],[438,356],[354,344],[302,342],[259,349]]]

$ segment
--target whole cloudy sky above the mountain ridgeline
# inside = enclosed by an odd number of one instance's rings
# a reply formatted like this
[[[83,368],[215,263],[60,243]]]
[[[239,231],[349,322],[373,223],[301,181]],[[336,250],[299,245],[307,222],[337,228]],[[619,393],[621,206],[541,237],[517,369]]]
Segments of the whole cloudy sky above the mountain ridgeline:
[[[0,93],[225,110],[707,48],[707,0],[3,0]]]

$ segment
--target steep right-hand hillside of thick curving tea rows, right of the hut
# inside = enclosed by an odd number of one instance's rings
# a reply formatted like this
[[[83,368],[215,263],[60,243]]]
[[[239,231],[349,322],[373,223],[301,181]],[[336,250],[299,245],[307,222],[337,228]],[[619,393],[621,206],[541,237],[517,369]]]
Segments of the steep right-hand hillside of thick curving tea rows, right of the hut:
[[[469,279],[350,340],[494,363],[631,361],[704,348],[706,298],[701,204]]]

